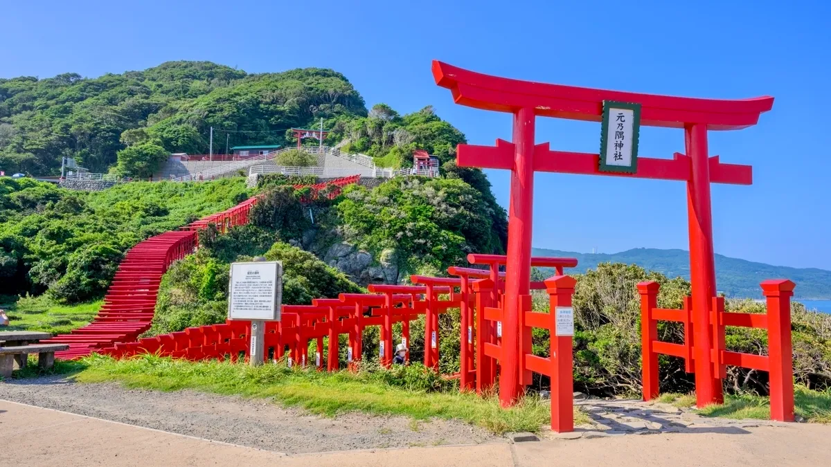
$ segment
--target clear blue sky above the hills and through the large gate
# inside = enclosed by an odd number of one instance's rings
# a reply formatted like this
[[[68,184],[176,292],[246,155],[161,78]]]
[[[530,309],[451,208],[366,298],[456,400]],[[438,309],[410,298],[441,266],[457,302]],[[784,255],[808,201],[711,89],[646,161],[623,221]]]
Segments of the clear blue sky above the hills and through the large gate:
[[[100,76],[170,60],[248,72],[341,71],[367,106],[426,105],[470,143],[510,140],[509,116],[456,106],[430,61],[489,74],[676,96],[774,96],[711,155],[754,166],[713,185],[715,251],[831,269],[829,2],[4,2],[0,77]],[[598,123],[538,119],[537,142],[597,152]],[[643,128],[639,154],[683,152],[682,130]],[[507,207],[509,174],[489,170]],[[534,246],[601,253],[688,248],[681,182],[538,174]],[[553,206],[557,206],[554,208]]]

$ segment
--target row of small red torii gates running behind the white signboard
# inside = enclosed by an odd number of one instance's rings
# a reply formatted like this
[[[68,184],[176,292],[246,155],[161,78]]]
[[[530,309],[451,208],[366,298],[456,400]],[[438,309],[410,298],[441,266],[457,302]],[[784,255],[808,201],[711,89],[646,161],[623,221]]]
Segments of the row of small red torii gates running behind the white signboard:
[[[366,327],[378,326],[381,330],[379,356],[381,365],[390,366],[395,346],[393,325],[401,322],[401,341],[409,347],[410,324],[419,315],[425,315],[424,361],[425,366],[439,369],[439,316],[450,308],[460,308],[460,372],[445,377],[459,378],[460,390],[475,390],[482,394],[494,385],[499,372],[497,361],[502,360],[502,340],[498,332],[503,317],[501,309],[494,307],[504,300],[504,255],[470,254],[470,263],[486,264],[488,269],[451,267],[448,272],[455,278],[411,276],[418,285],[369,286],[375,293],[342,293],[338,298],[317,298],[312,305],[284,305],[281,322],[266,322],[264,346],[279,360],[287,358],[288,365],[309,365],[309,344],[316,341],[317,352],[313,365],[318,369],[341,369],[340,336],[348,336],[347,367],[356,369],[356,362],[363,354],[362,338]],[[563,268],[577,265],[573,258],[532,258],[534,266]],[[495,280],[493,279],[495,278]],[[547,289],[553,307],[569,306],[574,279],[562,274],[540,283],[536,289]],[[572,430],[573,406],[571,400],[571,340],[554,337],[553,314],[531,311],[531,297],[524,297],[523,305],[524,355],[519,367],[527,381],[531,372],[552,377],[552,381],[568,378],[568,391],[552,386],[552,428],[558,431]],[[550,357],[534,356],[531,351],[531,329],[542,327],[551,333]],[[139,342],[116,344],[102,352],[124,357],[138,353],[159,353],[162,356],[183,357],[194,360],[229,358],[238,360],[248,354],[250,322],[229,321],[204,327],[190,327],[183,332],[149,337]],[[327,342],[324,342],[326,338]],[[326,347],[324,347],[326,346]],[[288,347],[288,353],[286,348]],[[324,355],[324,351],[326,351]],[[409,353],[406,359],[409,360]]]

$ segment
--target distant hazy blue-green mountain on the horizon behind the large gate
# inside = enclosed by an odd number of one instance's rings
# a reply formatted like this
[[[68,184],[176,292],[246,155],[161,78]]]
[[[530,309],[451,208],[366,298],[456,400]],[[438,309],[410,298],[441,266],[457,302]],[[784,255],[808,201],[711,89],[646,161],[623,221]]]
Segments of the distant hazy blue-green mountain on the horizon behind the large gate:
[[[681,249],[633,248],[621,253],[574,253],[569,251],[533,248],[534,256],[561,256],[577,258],[578,267],[568,269],[584,273],[596,268],[597,263],[627,263],[666,274],[669,277],[690,278],[690,253]],[[759,283],[765,279],[790,279],[796,283],[796,297],[831,299],[831,271],[817,268],[789,268],[754,263],[739,258],[715,255],[715,282],[719,292],[727,297],[762,296]]]

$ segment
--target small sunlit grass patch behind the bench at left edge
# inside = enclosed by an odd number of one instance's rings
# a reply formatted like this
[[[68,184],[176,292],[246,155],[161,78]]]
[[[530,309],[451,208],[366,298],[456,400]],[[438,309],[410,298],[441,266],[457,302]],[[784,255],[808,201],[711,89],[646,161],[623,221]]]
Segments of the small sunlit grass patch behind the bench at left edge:
[[[84,326],[96,316],[101,301],[58,305],[46,295],[40,297],[7,297],[0,301],[0,308],[6,310],[9,326],[6,331],[42,331],[62,334]]]

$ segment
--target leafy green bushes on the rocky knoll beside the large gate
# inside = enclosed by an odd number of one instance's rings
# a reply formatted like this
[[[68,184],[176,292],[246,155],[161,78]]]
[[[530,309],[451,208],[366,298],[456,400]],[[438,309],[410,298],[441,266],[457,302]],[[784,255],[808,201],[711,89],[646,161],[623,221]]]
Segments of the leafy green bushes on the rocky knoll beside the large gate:
[[[502,224],[494,223],[484,195],[461,179],[396,178],[345,194],[337,213],[347,240],[389,258],[401,277],[441,273],[465,263],[467,253],[504,252]]]

